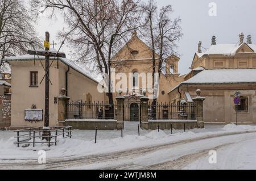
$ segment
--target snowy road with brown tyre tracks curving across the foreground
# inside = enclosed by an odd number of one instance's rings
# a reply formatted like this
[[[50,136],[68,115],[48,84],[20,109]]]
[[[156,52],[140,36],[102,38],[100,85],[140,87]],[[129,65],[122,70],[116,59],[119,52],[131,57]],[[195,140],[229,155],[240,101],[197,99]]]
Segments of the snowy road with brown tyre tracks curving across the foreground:
[[[209,164],[209,150],[217,164]],[[256,133],[221,133],[108,154],[1,163],[0,169],[256,169]]]

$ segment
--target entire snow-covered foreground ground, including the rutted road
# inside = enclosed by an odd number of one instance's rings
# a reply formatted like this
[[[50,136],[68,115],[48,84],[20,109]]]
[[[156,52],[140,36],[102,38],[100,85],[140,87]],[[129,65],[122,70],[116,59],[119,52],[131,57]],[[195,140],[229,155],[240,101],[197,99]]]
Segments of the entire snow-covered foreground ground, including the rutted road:
[[[71,139],[60,139],[51,148],[46,144],[17,148],[14,132],[2,131],[0,169],[27,169],[29,165],[38,169],[256,169],[254,125],[208,126],[173,134],[140,132],[138,136],[138,123],[127,122],[123,138],[121,131],[98,131],[94,144],[94,131],[73,131]],[[217,164],[208,162],[210,149],[217,150]],[[39,150],[47,150],[47,165],[37,163]]]

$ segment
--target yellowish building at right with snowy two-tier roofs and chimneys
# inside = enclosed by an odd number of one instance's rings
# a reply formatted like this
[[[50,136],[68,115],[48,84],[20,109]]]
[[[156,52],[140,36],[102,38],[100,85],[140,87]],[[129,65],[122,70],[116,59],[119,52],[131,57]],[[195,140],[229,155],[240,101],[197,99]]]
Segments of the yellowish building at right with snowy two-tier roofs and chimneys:
[[[217,44],[213,36],[205,52],[200,41],[191,72],[168,92],[171,102],[193,102],[191,97],[200,89],[205,97],[205,124],[230,124],[236,123],[234,93],[240,91],[238,124],[256,124],[256,45],[251,43],[250,35],[246,43],[243,33],[239,38],[237,44]]]

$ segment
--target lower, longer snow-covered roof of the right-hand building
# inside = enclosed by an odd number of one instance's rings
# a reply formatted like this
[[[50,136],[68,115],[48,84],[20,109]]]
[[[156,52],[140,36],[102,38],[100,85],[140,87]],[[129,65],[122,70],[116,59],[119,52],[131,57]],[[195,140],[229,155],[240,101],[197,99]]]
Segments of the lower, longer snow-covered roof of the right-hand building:
[[[187,81],[181,82],[170,92],[174,91],[181,85],[220,83],[256,83],[256,69],[203,70]]]

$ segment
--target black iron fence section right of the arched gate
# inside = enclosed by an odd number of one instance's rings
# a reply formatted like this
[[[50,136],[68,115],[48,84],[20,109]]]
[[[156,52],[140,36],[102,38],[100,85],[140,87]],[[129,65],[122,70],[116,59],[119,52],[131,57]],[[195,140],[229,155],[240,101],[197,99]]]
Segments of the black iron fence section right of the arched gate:
[[[195,120],[195,104],[183,103],[149,103],[148,119],[150,120]]]

